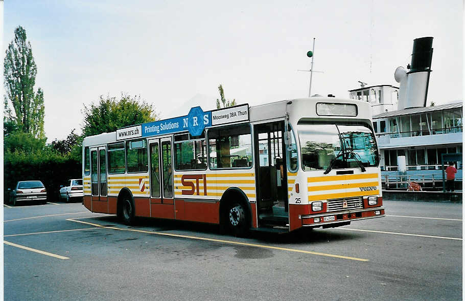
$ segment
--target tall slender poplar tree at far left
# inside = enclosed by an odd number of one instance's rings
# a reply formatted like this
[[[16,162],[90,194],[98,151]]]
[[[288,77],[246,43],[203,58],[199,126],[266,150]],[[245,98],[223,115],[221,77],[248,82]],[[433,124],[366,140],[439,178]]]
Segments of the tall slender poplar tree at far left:
[[[16,128],[36,138],[45,137],[43,91],[38,88],[34,92],[36,75],[37,66],[32,56],[31,43],[26,40],[26,30],[18,26],[4,60],[4,128],[7,128],[7,132]],[[14,112],[10,109],[10,103]]]

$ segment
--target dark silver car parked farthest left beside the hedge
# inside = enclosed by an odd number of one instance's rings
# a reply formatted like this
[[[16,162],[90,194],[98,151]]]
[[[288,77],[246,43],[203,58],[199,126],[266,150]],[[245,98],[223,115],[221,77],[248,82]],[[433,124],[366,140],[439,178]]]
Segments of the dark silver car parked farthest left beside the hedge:
[[[47,189],[40,181],[19,181],[13,190],[10,190],[10,204],[16,206],[18,202],[47,203]]]

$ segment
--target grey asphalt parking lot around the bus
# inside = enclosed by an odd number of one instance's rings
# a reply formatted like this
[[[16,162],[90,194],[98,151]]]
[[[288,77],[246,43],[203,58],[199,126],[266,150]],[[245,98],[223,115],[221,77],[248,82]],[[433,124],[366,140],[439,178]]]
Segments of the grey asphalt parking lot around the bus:
[[[286,235],[140,220],[81,203],[4,206],[6,300],[462,298],[462,204]]]

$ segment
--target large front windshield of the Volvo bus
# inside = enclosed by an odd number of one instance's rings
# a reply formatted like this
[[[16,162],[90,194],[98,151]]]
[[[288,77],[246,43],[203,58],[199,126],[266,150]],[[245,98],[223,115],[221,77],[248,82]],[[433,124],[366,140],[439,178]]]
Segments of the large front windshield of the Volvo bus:
[[[379,164],[375,135],[366,124],[299,123],[297,132],[305,171]]]

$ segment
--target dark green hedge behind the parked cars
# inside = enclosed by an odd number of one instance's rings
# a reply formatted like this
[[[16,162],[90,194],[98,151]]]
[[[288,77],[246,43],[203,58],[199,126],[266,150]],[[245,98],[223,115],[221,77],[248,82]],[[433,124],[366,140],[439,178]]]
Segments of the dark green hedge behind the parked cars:
[[[17,181],[39,180],[47,189],[47,199],[57,200],[60,185],[69,179],[82,178],[80,160],[70,155],[61,155],[50,149],[34,153],[21,151],[4,154],[4,196],[8,200],[8,188]]]

